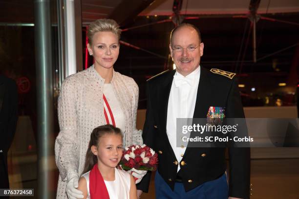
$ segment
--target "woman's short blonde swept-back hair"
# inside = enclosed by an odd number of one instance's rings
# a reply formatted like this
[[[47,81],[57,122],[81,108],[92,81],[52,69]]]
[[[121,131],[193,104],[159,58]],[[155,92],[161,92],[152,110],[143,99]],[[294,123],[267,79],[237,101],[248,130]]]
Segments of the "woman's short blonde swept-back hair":
[[[120,35],[122,30],[115,20],[110,19],[99,19],[95,20],[89,24],[87,31],[87,38],[89,45],[92,44],[92,38],[97,32],[112,32],[114,33],[118,40],[120,40]]]

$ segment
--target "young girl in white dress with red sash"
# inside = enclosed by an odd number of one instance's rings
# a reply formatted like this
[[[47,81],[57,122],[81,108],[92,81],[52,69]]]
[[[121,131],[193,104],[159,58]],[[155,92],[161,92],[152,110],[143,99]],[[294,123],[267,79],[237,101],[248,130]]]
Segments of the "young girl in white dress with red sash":
[[[133,176],[115,168],[122,158],[122,143],[120,129],[112,125],[92,131],[78,187],[84,199],[137,199]]]

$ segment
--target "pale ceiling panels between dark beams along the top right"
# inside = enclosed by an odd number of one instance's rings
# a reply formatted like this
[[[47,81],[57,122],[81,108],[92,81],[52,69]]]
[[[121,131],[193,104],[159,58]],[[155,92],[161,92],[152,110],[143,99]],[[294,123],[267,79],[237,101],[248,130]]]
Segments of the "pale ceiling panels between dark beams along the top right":
[[[249,4],[250,0],[183,0],[181,14],[246,14]],[[172,15],[172,5],[173,0],[155,0],[139,15]],[[299,12],[299,0],[261,0],[257,10],[259,14],[291,12]]]

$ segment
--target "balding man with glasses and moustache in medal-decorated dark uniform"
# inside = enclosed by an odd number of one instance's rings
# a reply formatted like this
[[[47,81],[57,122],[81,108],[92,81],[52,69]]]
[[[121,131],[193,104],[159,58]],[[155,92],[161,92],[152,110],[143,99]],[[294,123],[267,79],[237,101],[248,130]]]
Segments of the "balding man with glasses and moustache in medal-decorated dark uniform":
[[[244,118],[234,73],[201,67],[204,44],[199,30],[181,24],[171,32],[170,51],[176,70],[147,82],[144,143],[158,153],[157,199],[249,199],[250,149],[229,148],[229,183],[225,148],[176,146],[176,118],[207,118],[211,107],[225,118]],[[148,191],[150,174],[137,184]]]

